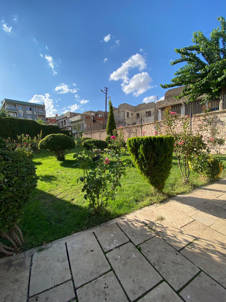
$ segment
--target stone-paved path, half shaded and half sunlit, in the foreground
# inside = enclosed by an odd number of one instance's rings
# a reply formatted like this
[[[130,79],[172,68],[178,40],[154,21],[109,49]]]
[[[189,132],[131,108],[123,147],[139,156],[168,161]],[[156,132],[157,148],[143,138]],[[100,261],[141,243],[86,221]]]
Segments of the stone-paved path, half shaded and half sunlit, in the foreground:
[[[226,301],[226,180],[0,259],[1,302]]]

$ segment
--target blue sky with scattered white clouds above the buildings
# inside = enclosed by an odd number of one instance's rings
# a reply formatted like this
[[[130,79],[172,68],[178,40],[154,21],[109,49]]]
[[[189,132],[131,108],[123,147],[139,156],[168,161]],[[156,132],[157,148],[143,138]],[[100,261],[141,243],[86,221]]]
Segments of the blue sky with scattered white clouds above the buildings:
[[[209,37],[225,1],[4,1],[0,100],[46,104],[47,116],[154,101],[179,66],[174,48]],[[114,94],[115,95],[114,95]],[[133,104],[135,105],[135,104]]]

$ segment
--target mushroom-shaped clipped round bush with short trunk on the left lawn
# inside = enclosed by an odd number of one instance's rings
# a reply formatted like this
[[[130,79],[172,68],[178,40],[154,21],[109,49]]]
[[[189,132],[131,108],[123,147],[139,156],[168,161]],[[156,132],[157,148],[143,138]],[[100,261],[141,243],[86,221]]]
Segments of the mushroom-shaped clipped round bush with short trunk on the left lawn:
[[[57,160],[66,158],[66,153],[75,147],[74,139],[65,134],[49,134],[39,142],[39,149],[48,151]]]

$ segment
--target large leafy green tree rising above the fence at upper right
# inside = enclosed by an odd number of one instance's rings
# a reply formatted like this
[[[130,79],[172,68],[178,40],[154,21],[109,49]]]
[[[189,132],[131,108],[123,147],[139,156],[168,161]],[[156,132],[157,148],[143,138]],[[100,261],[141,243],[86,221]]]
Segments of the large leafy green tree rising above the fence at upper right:
[[[217,20],[221,22],[221,30],[214,29],[210,39],[201,31],[194,32],[192,42],[195,45],[175,49],[181,58],[171,65],[186,64],[174,73],[171,84],[160,84],[162,88],[185,85],[175,98],[187,96],[188,101],[195,101],[205,94],[204,99],[209,100],[219,97],[221,88],[226,86],[226,22],[223,17]]]

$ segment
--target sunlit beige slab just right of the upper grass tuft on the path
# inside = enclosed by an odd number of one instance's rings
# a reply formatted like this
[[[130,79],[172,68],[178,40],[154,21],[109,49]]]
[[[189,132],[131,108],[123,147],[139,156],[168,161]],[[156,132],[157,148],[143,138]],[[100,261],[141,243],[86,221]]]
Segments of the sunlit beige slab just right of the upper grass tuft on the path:
[[[188,217],[187,215],[184,215],[183,213],[172,209],[171,207],[167,207],[166,205],[161,205],[160,207],[157,207],[153,209],[153,212],[155,215],[161,215],[165,217],[165,219],[169,220],[171,223],[175,224],[178,227],[183,227],[187,223],[190,223],[193,221],[192,218]]]

